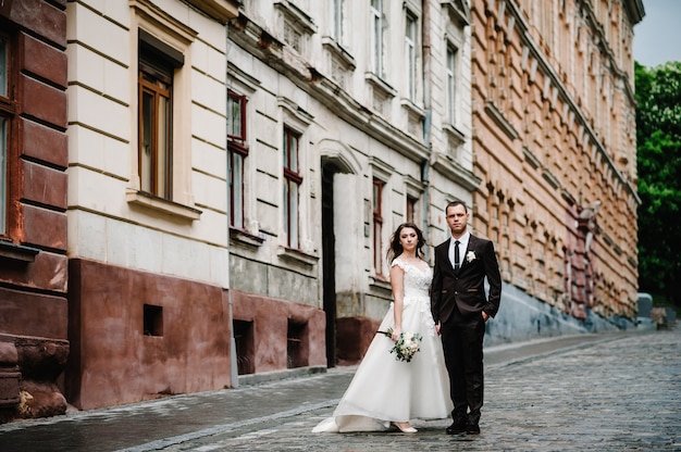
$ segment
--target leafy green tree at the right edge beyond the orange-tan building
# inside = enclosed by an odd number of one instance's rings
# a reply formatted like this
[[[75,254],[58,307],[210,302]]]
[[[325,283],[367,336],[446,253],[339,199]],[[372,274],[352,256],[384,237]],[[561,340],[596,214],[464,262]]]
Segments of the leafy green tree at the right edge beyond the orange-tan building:
[[[681,306],[681,62],[634,74],[639,290]]]

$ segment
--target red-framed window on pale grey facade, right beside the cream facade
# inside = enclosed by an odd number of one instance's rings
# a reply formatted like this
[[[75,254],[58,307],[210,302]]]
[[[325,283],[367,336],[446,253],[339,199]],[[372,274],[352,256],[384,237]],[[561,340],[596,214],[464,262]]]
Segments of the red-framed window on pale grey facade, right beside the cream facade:
[[[227,91],[227,151],[230,152],[230,226],[244,229],[244,160],[246,145],[246,96]]]

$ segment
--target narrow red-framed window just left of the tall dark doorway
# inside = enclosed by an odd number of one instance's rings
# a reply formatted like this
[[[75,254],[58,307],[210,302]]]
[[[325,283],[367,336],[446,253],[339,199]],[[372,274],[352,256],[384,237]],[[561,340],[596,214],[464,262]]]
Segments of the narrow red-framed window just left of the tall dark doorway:
[[[284,127],[284,231],[288,248],[299,249],[298,193],[302,177],[298,168],[298,142],[300,134]]]

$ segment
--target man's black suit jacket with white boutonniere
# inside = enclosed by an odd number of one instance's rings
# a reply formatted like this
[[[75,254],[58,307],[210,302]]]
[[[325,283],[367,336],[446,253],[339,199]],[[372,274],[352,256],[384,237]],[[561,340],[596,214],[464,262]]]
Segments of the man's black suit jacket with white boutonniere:
[[[431,311],[435,324],[447,322],[455,305],[461,321],[476,319],[482,316],[482,311],[494,317],[502,300],[502,275],[494,244],[471,235],[468,248],[461,254],[461,266],[455,271],[448,256],[449,240],[435,247],[431,285]],[[484,290],[485,277],[490,284],[488,294]]]

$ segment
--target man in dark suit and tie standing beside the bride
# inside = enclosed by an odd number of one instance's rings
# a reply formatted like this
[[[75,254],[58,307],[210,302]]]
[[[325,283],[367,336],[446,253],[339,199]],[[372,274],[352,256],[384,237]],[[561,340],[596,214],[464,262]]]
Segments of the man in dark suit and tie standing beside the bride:
[[[447,434],[480,434],[483,400],[485,322],[494,317],[502,298],[502,276],[490,240],[468,230],[470,213],[461,201],[445,209],[451,238],[435,247],[431,311],[442,335],[454,423]],[[490,284],[485,297],[484,279]]]

